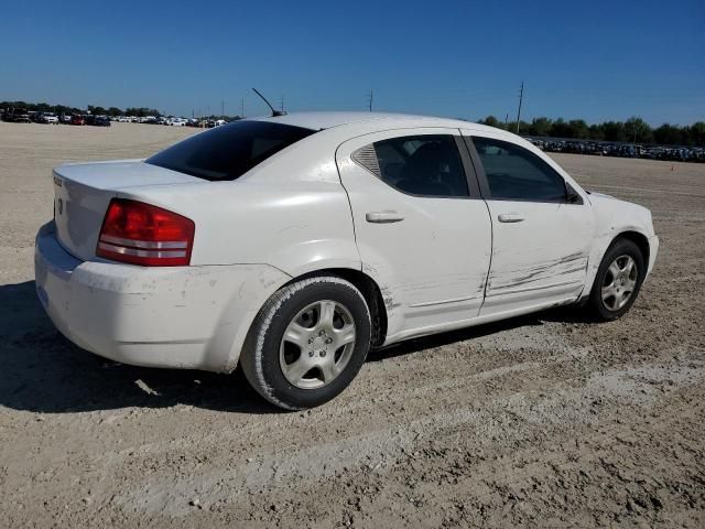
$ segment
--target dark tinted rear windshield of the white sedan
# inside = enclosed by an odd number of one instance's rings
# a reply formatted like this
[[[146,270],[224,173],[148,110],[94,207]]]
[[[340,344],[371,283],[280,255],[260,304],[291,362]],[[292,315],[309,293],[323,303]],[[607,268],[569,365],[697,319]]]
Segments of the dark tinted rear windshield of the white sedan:
[[[235,121],[176,143],[147,163],[204,180],[235,180],[314,132],[268,121]]]

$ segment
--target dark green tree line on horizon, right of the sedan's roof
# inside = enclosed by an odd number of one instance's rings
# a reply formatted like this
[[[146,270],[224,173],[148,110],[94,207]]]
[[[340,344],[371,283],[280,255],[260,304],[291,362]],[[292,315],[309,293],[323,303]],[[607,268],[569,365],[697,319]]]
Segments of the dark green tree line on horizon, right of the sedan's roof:
[[[489,125],[498,129],[517,130],[517,121],[502,122],[495,116],[488,116],[478,123]],[[565,121],[563,118],[535,118],[530,123],[519,122],[521,136],[549,138],[571,138],[576,140],[618,141],[622,143],[642,143],[660,145],[705,147],[705,122],[697,121],[691,126],[663,123],[653,128],[641,118],[627,121],[605,121],[587,125],[583,119]]]

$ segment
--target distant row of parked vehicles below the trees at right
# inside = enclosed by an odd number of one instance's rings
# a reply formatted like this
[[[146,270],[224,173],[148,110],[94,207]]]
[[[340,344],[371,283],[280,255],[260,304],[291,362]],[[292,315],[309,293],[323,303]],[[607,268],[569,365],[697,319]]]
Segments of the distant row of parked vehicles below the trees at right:
[[[701,147],[636,145],[616,142],[562,140],[525,137],[545,152],[568,152],[598,156],[644,158],[671,162],[705,163],[705,149]]]

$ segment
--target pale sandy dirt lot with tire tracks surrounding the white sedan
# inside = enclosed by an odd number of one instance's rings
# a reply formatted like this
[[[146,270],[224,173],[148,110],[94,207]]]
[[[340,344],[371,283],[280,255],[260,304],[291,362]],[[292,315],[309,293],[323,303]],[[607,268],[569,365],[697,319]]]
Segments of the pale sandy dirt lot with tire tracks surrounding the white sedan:
[[[653,212],[661,252],[622,320],[413,341],[282,413],[238,374],[85,353],[35,300],[51,168],[192,132],[0,123],[0,526],[705,526],[705,165],[555,156]]]

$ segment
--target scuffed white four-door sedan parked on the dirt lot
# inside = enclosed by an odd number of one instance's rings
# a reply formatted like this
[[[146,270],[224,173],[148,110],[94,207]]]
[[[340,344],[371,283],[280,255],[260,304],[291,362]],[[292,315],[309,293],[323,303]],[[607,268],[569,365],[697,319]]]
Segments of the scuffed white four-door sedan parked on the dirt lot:
[[[585,304],[633,304],[648,209],[584,191],[501,130],[321,112],[236,121],[147,160],[54,170],[36,290],[70,341],[229,373],[302,409],[370,347]]]

